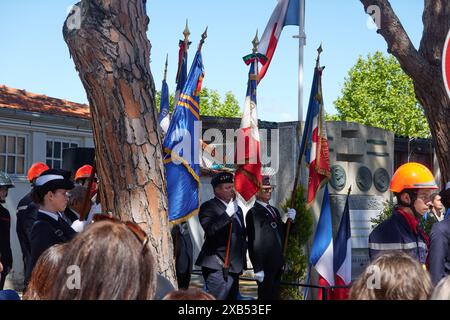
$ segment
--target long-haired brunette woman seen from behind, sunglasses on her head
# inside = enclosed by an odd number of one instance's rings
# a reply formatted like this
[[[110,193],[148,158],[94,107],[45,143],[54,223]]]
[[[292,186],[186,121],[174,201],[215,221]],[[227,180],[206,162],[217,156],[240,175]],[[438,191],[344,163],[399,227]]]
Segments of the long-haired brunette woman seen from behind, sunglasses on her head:
[[[89,225],[67,245],[48,299],[149,300],[155,286],[146,233],[137,224],[111,219]]]

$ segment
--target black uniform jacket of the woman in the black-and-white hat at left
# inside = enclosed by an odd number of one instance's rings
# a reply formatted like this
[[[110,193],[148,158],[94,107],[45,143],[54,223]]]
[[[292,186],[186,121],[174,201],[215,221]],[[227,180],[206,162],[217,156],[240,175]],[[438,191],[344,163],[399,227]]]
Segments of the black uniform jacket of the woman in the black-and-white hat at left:
[[[37,220],[31,229],[31,263],[26,274],[28,282],[31,272],[41,254],[51,246],[70,241],[77,233],[62,218],[58,221],[38,211]]]

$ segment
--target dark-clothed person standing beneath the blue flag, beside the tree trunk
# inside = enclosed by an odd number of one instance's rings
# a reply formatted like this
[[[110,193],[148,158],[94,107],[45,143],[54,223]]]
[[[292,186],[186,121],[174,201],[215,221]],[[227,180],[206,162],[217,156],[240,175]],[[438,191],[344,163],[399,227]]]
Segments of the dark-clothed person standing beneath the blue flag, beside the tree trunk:
[[[178,289],[188,289],[191,281],[193,248],[187,222],[173,226],[171,234],[175,251]]]

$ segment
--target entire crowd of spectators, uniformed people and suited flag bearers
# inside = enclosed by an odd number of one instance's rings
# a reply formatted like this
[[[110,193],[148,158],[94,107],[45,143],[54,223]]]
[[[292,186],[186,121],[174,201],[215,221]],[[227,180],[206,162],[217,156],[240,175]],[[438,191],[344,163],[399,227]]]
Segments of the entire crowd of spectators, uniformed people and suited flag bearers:
[[[233,174],[220,172],[212,178],[214,198],[199,210],[205,241],[195,260],[205,285],[203,290],[190,288],[192,242],[187,226],[180,224],[171,230],[175,290],[157,272],[148,235],[133,222],[101,213],[95,187],[88,186],[92,170],[83,166],[73,181],[70,172],[43,163],[29,169],[32,190],[17,207],[23,299],[235,300],[247,251],[258,299],[279,299],[285,227],[289,219],[295,221],[296,211],[288,209],[283,219],[269,204],[274,189],[270,177],[263,176],[245,218],[236,200]],[[12,254],[10,214],[1,204],[13,187],[10,177],[0,173],[0,299],[10,300],[19,296],[2,290]],[[437,189],[425,166],[408,163],[397,169],[390,184],[397,205],[370,234],[371,263],[354,281],[350,299],[450,298],[450,219],[446,219],[450,184],[441,192]],[[86,197],[91,200],[85,201]]]

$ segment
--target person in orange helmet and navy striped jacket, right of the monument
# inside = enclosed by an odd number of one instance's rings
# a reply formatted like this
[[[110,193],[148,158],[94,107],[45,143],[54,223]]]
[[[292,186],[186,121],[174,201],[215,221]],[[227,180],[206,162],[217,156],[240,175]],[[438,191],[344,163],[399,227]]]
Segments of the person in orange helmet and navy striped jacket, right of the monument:
[[[429,238],[419,227],[419,219],[428,211],[427,204],[437,188],[431,171],[420,163],[409,162],[395,171],[390,190],[397,205],[391,217],[369,235],[371,260],[389,251],[403,251],[426,265]]]

